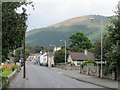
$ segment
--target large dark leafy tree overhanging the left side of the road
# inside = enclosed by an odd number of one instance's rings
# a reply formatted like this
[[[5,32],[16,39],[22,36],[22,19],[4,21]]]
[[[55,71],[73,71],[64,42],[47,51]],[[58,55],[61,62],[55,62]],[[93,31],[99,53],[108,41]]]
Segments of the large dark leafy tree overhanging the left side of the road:
[[[16,9],[31,2],[3,2],[2,3],[2,61],[8,57],[9,52],[22,46],[26,32],[26,9],[22,13]]]

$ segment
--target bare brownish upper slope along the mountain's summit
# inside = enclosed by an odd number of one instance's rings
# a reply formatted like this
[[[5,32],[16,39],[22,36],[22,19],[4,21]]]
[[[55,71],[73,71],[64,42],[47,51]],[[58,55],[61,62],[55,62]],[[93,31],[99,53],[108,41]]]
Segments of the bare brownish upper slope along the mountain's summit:
[[[95,24],[96,22],[99,23],[99,21],[97,21],[98,19],[100,19],[99,15],[80,16],[80,17],[74,17],[74,18],[65,20],[63,22],[51,25],[50,27],[59,28],[59,27],[80,25],[80,24],[90,26],[90,25]],[[95,21],[93,21],[93,20],[95,20]],[[100,24],[98,24],[98,26],[100,26]],[[96,27],[97,27],[97,25],[96,25]]]

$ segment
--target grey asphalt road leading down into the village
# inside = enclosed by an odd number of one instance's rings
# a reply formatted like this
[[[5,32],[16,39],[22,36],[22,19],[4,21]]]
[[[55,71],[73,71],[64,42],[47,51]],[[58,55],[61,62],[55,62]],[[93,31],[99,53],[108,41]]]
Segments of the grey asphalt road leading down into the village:
[[[47,67],[26,63],[26,79],[22,78],[22,70],[11,81],[9,88],[102,88],[81,82]]]

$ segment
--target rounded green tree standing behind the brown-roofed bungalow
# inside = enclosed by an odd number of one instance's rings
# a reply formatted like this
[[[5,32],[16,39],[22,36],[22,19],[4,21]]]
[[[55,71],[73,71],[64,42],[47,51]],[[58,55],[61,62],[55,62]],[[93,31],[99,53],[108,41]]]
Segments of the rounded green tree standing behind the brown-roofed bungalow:
[[[80,50],[80,49],[84,50],[84,49],[90,49],[92,47],[92,44],[91,44],[90,40],[88,39],[88,37],[86,37],[81,32],[73,34],[72,36],[70,36],[69,39],[71,42],[70,47],[73,48],[73,50],[75,48],[77,48],[78,50]]]

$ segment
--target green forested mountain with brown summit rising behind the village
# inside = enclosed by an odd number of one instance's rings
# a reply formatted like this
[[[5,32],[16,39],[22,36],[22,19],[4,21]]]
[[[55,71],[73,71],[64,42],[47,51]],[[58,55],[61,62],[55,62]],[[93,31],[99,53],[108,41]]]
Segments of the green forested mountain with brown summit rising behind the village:
[[[100,39],[101,18],[103,26],[109,24],[109,17],[87,15],[74,17],[46,28],[33,29],[26,33],[26,43],[32,46],[48,47],[50,44],[64,45],[60,40],[66,40],[69,45],[69,37],[76,32],[83,32],[94,42],[94,40]]]

